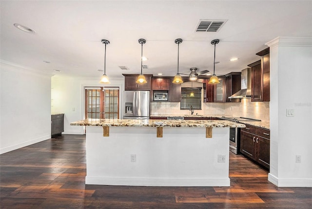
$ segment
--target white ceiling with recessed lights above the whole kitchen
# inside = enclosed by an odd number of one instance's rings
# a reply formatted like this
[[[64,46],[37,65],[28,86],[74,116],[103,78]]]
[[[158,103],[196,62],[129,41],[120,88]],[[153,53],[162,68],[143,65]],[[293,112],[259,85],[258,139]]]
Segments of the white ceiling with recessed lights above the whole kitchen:
[[[311,0],[1,0],[0,59],[58,76],[122,78],[140,73],[174,76],[214,68],[215,74],[239,72],[260,59],[255,53],[276,37],[312,36]],[[196,32],[200,20],[227,20],[218,32]],[[20,23],[36,31],[14,27]],[[230,59],[238,60],[231,62]],[[49,63],[46,63],[47,61]],[[129,70],[121,70],[126,66]],[[60,71],[60,72],[59,72]]]

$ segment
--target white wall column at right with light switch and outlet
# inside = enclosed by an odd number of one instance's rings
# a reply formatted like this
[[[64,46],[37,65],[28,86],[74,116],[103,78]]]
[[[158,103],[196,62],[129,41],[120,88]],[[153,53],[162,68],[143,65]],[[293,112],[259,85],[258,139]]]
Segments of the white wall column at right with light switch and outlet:
[[[279,37],[270,46],[269,180],[312,187],[312,37]],[[294,109],[294,117],[286,117]],[[296,155],[301,163],[296,163]]]

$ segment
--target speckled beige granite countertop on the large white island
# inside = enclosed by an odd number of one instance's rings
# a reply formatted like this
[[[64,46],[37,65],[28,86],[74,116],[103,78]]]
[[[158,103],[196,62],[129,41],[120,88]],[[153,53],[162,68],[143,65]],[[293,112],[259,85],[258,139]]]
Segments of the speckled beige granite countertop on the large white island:
[[[70,125],[90,126],[136,126],[136,127],[245,127],[225,120],[133,120],[133,119],[87,119]]]

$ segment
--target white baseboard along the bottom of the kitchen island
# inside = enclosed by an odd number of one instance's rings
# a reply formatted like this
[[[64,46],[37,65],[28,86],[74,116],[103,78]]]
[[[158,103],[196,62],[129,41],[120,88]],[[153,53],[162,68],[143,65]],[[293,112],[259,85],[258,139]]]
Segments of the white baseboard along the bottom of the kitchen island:
[[[135,179],[135,178],[85,178],[90,185],[155,186],[155,187],[230,187],[230,179]]]

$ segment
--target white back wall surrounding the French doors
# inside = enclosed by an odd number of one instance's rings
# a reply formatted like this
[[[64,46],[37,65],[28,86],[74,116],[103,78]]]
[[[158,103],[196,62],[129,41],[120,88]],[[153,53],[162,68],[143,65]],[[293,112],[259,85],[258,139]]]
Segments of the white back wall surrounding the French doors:
[[[84,134],[83,126],[70,125],[71,122],[80,121],[85,118],[84,106],[84,87],[119,87],[119,118],[122,118],[123,109],[123,78],[110,78],[111,84],[99,84],[98,78],[81,78],[81,77],[67,77],[62,75],[55,75],[52,77],[52,113],[64,113],[64,132],[62,134]]]

